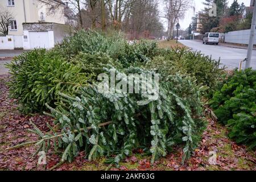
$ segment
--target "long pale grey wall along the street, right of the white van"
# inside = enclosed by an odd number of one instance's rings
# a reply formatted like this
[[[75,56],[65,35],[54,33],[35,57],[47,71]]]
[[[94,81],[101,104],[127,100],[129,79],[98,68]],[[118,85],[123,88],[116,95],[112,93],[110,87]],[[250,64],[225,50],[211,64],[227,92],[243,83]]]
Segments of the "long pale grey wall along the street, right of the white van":
[[[250,30],[233,31],[225,34],[225,42],[227,43],[249,44],[249,38]],[[254,44],[256,44],[256,36]]]

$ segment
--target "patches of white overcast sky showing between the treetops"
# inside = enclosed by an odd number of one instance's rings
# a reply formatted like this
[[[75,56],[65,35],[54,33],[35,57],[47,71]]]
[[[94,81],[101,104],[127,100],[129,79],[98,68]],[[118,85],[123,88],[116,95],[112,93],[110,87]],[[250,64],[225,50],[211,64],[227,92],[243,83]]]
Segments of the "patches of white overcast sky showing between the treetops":
[[[205,0],[194,0],[194,4],[195,4],[195,9],[197,11],[200,11],[201,9],[204,9],[204,5],[203,2],[205,2]],[[233,0],[229,0],[229,6],[232,4]],[[250,6],[250,0],[238,0],[239,3],[245,3],[245,6]],[[162,3],[159,3],[159,10],[160,10],[160,15],[162,15],[163,13],[163,5]],[[185,29],[189,26],[189,23],[191,23],[191,19],[193,16],[193,12],[192,10],[187,11],[187,13],[185,14],[185,17],[183,20],[180,20],[180,26],[182,29]],[[167,22],[164,18],[161,18],[162,23],[164,24],[164,27],[166,27],[167,29]]]

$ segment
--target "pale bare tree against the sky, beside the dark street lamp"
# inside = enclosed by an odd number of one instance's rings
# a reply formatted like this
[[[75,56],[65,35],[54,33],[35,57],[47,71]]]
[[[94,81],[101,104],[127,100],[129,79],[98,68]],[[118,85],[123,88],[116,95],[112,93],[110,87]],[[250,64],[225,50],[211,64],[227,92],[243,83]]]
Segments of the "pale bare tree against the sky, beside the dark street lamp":
[[[164,16],[168,20],[167,36],[171,38],[175,23],[184,17],[184,14],[191,7],[191,0],[164,0]]]

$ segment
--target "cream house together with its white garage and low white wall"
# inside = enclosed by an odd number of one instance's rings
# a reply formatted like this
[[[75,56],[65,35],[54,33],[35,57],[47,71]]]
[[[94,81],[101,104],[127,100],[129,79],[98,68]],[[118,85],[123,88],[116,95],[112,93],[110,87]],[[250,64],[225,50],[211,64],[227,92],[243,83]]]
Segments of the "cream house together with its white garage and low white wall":
[[[0,49],[52,48],[71,33],[60,0],[0,0],[1,9],[14,18],[8,35],[0,37]]]

